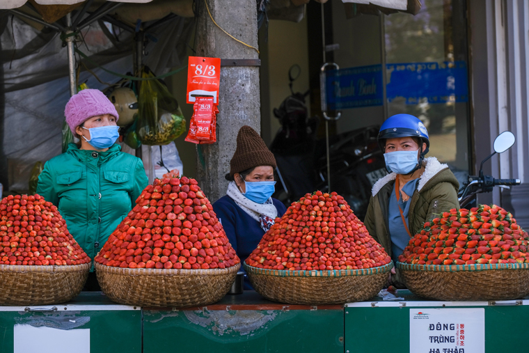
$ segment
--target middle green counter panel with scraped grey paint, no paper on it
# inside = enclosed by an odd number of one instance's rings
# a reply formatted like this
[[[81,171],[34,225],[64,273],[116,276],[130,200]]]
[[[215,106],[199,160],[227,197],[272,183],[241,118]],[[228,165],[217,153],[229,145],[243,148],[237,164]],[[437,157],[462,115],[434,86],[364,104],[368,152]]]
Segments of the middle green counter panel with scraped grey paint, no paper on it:
[[[143,352],[344,352],[342,306],[295,306],[255,292],[203,308],[144,308]]]

